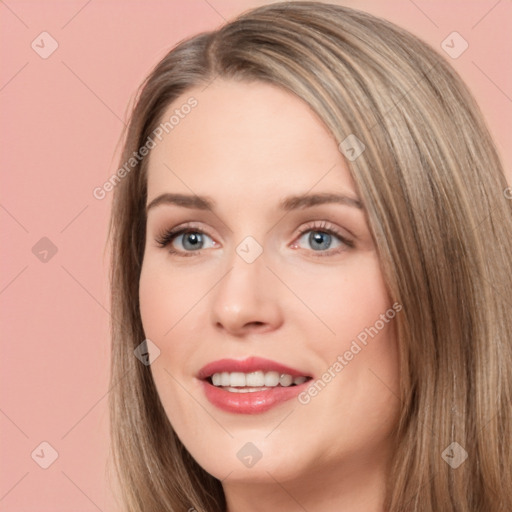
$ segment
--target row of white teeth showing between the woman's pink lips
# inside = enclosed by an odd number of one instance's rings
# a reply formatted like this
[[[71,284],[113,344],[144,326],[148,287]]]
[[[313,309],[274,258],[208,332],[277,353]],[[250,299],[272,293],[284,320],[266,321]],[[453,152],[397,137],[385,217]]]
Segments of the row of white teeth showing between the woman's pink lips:
[[[214,373],[211,377],[212,384],[217,387],[228,388],[228,391],[239,391],[247,393],[257,391],[263,387],[273,388],[276,386],[289,387],[292,384],[300,385],[306,382],[307,377],[292,377],[287,373],[275,371],[255,371],[250,373],[242,372],[221,372]],[[237,388],[237,389],[235,389]],[[244,388],[244,389],[240,389]]]

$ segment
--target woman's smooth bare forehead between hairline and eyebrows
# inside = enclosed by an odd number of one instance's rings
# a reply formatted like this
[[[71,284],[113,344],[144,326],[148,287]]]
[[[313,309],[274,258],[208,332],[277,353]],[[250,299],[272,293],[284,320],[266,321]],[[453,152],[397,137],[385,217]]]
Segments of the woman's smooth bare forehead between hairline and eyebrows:
[[[334,137],[304,101],[277,86],[217,79],[185,92],[161,121],[168,125],[149,157],[148,198],[236,191],[261,199],[320,182],[323,190],[354,190]]]

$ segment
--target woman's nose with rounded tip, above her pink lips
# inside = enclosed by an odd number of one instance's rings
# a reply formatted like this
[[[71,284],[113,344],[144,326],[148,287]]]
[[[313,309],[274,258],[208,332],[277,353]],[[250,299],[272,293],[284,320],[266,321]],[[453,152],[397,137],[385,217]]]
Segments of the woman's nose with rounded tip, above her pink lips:
[[[212,290],[212,321],[217,330],[243,337],[270,332],[282,324],[281,287],[264,254],[248,263],[234,253],[229,270]]]

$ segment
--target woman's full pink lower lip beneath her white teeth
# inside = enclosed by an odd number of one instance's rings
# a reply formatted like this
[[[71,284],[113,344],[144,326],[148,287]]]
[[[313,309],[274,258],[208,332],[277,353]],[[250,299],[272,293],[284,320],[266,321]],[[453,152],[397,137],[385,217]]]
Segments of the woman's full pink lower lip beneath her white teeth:
[[[298,386],[276,386],[247,393],[225,391],[208,381],[202,381],[202,384],[206,398],[219,409],[238,414],[259,414],[296,397],[309,381]]]

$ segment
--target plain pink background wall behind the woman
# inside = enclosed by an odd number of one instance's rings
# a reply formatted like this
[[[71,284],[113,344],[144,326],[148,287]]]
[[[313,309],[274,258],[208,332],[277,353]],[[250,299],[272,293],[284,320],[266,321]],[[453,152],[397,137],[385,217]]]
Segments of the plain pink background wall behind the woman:
[[[105,478],[111,193],[97,200],[92,191],[117,169],[128,102],[152,66],[180,39],[264,3],[0,3],[0,511],[118,510]],[[511,176],[512,2],[338,3],[394,21],[440,52],[459,32],[469,47],[447,58],[477,97]],[[31,47],[49,48],[43,31],[58,42],[47,59]],[[57,247],[46,262],[32,252],[43,237]],[[59,455],[48,469],[31,458],[43,441]],[[50,456],[42,449],[38,461]]]

